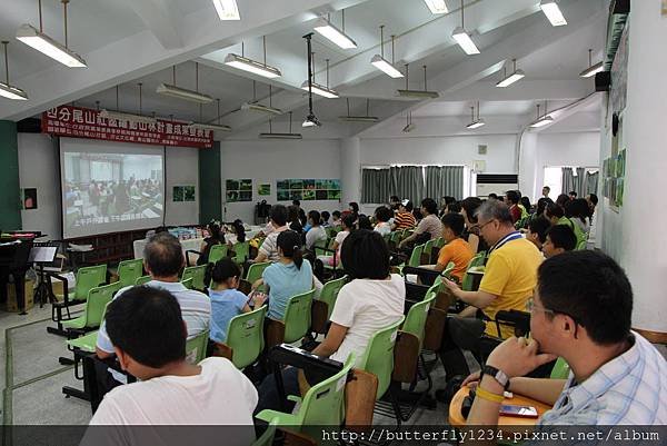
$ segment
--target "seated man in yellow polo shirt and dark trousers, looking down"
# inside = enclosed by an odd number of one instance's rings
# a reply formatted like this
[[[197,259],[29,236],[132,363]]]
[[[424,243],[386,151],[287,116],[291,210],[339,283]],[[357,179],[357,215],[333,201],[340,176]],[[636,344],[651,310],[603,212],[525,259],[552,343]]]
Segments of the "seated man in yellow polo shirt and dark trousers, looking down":
[[[479,290],[464,291],[455,283],[445,280],[457,298],[470,305],[458,316],[447,319],[440,349],[447,379],[469,374],[461,349],[479,351],[482,334],[501,338],[514,335],[510,327],[501,327],[498,334],[495,323],[485,323],[475,315],[480,309],[488,319],[494,320],[499,310],[525,311],[526,303],[537,285],[537,268],[542,261],[535,245],[515,230],[511,214],[505,204],[488,200],[479,207],[476,216],[479,234],[491,249]]]

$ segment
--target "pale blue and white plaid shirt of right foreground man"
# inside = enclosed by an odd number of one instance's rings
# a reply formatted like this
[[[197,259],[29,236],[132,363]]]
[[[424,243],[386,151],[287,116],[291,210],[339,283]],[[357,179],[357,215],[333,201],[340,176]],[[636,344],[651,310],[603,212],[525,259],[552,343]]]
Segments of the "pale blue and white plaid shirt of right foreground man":
[[[539,422],[547,425],[667,424],[667,361],[633,331],[633,346],[577,384],[573,373],[565,389]]]

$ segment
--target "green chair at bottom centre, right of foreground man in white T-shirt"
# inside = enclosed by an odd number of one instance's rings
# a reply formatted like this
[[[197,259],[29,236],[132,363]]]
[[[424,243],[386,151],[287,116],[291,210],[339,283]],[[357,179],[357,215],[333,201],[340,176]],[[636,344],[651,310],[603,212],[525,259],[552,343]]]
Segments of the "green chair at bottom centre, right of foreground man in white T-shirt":
[[[300,428],[306,426],[340,426],[345,417],[345,384],[355,365],[355,354],[350,354],[342,369],[336,375],[310,387],[301,399],[290,395],[288,399],[300,403],[296,414],[277,410],[262,410],[257,418],[276,423],[278,426]]]

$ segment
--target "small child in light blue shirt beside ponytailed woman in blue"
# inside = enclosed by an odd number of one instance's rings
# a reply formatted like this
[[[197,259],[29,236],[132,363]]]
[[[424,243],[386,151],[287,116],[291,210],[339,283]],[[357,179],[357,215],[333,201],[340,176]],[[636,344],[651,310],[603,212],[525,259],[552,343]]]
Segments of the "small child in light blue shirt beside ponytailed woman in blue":
[[[225,343],[227,340],[227,328],[229,321],[242,314],[250,313],[250,299],[248,296],[237,290],[241,278],[241,268],[230,258],[218,260],[215,265],[209,264],[205,281],[212,286],[209,289],[211,299],[211,328],[209,338],[215,343]],[[253,306],[261,306],[263,299],[258,297],[253,300]]]

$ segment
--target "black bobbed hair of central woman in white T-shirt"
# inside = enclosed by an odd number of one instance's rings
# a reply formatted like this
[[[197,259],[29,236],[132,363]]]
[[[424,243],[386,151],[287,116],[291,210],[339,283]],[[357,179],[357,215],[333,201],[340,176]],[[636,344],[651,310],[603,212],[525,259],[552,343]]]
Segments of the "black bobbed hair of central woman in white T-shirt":
[[[379,232],[357,229],[342,242],[340,262],[352,279],[386,279],[389,276],[389,247]]]

